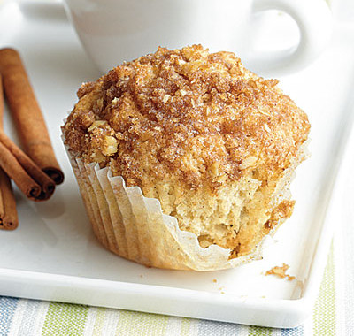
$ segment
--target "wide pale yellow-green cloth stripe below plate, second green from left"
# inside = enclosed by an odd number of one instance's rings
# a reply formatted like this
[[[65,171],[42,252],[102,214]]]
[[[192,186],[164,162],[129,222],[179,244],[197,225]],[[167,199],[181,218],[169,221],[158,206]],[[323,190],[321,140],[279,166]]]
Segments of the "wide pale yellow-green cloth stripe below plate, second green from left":
[[[122,310],[119,314],[116,335],[164,335],[168,318],[165,315]]]

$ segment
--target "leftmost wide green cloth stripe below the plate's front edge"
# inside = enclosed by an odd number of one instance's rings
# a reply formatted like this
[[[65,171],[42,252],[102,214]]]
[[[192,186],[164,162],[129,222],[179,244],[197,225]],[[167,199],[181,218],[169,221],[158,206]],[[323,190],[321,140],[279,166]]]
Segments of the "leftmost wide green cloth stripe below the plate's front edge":
[[[50,302],[42,336],[80,336],[85,329],[89,307],[81,304]]]

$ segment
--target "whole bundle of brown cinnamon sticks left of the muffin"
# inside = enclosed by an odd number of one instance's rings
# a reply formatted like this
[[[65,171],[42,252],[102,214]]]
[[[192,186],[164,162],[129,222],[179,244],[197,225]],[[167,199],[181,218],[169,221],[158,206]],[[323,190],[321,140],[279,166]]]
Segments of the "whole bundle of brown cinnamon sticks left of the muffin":
[[[4,95],[23,150],[4,133]],[[11,179],[33,201],[48,200],[64,180],[25,67],[13,49],[0,50],[0,167],[0,229],[19,225]]]

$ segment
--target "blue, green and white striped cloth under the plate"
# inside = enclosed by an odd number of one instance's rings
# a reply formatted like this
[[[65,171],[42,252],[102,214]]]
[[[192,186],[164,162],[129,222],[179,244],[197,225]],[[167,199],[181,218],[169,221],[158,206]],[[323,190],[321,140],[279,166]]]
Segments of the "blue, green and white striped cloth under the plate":
[[[293,329],[235,325],[135,311],[0,297],[1,336],[62,335],[335,335],[335,248],[331,248],[312,318]]]

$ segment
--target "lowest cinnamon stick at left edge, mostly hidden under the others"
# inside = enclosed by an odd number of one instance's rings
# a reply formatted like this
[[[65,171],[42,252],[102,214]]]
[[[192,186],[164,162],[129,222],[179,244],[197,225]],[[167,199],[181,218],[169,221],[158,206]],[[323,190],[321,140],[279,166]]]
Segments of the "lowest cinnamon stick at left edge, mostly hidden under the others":
[[[0,74],[0,129],[3,129],[4,95]],[[15,196],[9,177],[0,168],[0,229],[14,230],[19,226]]]

